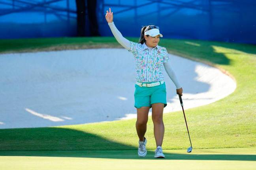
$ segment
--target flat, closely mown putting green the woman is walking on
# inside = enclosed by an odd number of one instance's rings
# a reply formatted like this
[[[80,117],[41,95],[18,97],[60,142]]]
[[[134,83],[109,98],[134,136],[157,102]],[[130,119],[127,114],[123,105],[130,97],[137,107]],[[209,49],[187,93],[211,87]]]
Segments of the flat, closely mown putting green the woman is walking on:
[[[166,159],[144,158],[137,150],[111,151],[2,151],[1,170],[255,170],[256,148],[164,150]]]

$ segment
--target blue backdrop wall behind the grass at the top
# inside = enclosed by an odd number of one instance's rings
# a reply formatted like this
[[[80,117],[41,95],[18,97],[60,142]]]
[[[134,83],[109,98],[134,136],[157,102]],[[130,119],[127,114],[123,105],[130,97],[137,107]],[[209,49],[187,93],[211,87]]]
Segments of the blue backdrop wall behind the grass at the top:
[[[139,39],[142,26],[155,24],[163,38],[256,44],[255,0],[98,0],[102,36],[113,36],[109,7],[124,37]],[[75,0],[0,0],[0,39],[74,37],[76,24]]]

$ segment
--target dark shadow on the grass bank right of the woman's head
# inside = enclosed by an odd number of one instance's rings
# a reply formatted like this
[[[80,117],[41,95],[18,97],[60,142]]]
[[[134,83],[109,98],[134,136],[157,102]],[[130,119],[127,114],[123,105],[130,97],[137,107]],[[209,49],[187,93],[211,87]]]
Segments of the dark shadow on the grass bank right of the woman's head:
[[[219,65],[231,64],[231,60],[226,56],[227,54],[256,54],[256,46],[252,44],[174,39],[162,39],[161,41],[162,46],[170,50],[170,53],[185,55]]]

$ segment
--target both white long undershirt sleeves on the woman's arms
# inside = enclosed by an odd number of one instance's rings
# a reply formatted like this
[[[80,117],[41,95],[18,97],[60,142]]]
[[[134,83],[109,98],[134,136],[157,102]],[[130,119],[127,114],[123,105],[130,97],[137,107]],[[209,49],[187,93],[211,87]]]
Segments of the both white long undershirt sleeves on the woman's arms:
[[[110,30],[112,31],[115,39],[117,39],[117,42],[119,42],[119,44],[121,44],[126,50],[130,50],[130,48],[131,48],[130,41],[122,36],[120,31],[117,30],[114,22],[109,22],[108,25],[109,25]],[[180,89],[181,85],[175,75],[175,72],[171,68],[171,63],[169,63],[169,62],[164,63],[164,69],[166,70],[169,78],[173,81],[174,85],[176,86],[176,89]]]

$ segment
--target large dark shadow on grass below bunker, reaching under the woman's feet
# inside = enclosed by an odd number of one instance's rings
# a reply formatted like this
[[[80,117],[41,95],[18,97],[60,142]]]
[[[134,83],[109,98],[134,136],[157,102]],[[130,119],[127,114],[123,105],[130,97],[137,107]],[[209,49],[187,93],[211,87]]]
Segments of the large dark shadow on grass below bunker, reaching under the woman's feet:
[[[137,148],[63,127],[0,129],[0,156],[155,159],[154,151],[139,158]],[[184,153],[186,151],[184,150]],[[165,153],[173,160],[256,161],[256,155]]]

